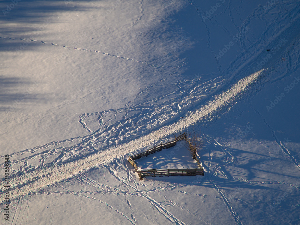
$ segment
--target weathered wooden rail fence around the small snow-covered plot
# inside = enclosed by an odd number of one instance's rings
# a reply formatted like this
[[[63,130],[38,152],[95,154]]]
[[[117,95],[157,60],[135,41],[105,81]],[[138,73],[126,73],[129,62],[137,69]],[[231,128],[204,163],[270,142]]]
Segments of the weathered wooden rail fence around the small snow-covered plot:
[[[155,152],[161,151],[163,149],[168,149],[176,145],[176,143],[180,140],[186,139],[186,133],[179,135],[178,137],[175,136],[174,141],[167,142],[165,144],[161,143],[158,146],[154,146],[152,149],[147,150],[146,152],[142,152],[137,155],[130,156],[128,158],[128,162],[134,167],[136,172],[138,173],[140,179],[143,179],[146,176],[196,176],[201,175],[204,176],[203,168],[196,157],[196,162],[200,169],[178,169],[178,170],[156,170],[156,169],[149,169],[149,170],[140,170],[137,163],[134,160],[140,159],[144,156],[148,156],[150,154],[154,154]]]

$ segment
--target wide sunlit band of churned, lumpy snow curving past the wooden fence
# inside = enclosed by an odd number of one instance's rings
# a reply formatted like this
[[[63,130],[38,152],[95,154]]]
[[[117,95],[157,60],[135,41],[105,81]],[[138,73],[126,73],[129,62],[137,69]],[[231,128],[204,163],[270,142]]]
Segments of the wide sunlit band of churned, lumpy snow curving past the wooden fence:
[[[126,155],[137,149],[152,145],[153,140],[160,140],[166,134],[178,133],[201,120],[210,117],[211,114],[217,113],[228,104],[234,104],[237,98],[244,93],[248,86],[262,73],[262,71],[253,73],[246,78],[241,79],[231,88],[223,93],[216,95],[214,100],[207,102],[200,109],[190,113],[187,117],[179,120],[178,122],[165,126],[158,131],[154,131],[143,137],[119,146],[107,148],[101,152],[88,155],[76,161],[71,161],[65,164],[52,165],[42,169],[35,169],[24,175],[14,177],[11,179],[11,198],[25,195],[27,193],[35,192],[43,187],[60,182],[66,178],[70,178],[81,171],[87,170],[91,167],[100,165],[102,162],[119,155]],[[150,144],[151,143],[151,144]],[[1,189],[3,192],[3,189]]]

